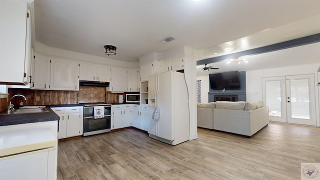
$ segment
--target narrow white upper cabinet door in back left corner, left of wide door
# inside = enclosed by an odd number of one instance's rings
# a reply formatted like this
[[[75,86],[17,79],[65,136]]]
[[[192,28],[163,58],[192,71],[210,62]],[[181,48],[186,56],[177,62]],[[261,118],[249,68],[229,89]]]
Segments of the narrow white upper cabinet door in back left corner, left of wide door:
[[[46,56],[34,53],[30,88],[49,89],[50,63]]]

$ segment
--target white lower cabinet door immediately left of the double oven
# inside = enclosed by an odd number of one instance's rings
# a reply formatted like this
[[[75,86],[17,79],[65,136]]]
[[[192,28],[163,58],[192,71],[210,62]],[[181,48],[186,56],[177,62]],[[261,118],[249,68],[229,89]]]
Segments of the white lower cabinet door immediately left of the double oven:
[[[80,113],[68,113],[66,121],[66,136],[72,137],[76,135],[81,135],[81,121]]]

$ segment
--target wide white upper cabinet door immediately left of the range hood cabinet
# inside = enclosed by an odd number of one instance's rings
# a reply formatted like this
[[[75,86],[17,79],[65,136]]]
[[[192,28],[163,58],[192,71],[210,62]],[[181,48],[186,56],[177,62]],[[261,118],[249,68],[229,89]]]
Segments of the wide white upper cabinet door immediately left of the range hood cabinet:
[[[50,89],[79,90],[78,63],[53,58],[50,63]]]

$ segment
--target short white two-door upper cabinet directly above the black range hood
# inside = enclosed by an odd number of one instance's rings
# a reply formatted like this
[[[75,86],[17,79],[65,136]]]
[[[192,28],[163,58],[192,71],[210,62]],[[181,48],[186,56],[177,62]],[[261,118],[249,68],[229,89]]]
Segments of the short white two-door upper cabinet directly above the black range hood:
[[[105,65],[79,63],[79,79],[109,82],[111,68]]]

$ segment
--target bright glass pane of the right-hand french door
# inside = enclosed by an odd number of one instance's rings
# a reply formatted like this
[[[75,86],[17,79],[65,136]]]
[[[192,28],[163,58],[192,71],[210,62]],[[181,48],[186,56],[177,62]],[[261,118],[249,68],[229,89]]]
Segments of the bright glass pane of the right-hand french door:
[[[308,79],[290,79],[291,117],[310,119]]]

